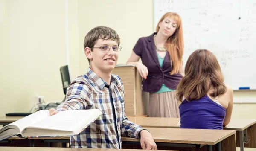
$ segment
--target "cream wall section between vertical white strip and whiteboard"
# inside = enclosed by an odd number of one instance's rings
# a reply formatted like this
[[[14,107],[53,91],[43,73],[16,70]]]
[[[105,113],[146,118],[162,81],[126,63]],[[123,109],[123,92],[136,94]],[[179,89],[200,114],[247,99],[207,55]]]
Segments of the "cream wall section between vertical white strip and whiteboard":
[[[83,43],[93,27],[108,26],[119,34],[122,51],[117,64],[126,64],[137,40],[153,32],[152,0],[78,0],[78,3],[80,74],[89,67]]]

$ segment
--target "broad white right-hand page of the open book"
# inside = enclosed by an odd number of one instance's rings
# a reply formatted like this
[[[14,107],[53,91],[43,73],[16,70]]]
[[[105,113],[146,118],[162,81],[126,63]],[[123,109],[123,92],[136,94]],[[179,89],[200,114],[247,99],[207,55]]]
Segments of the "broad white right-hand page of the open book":
[[[61,111],[46,119],[42,119],[29,128],[41,128],[60,131],[77,132],[93,122],[102,112],[99,109],[91,110],[66,110]]]

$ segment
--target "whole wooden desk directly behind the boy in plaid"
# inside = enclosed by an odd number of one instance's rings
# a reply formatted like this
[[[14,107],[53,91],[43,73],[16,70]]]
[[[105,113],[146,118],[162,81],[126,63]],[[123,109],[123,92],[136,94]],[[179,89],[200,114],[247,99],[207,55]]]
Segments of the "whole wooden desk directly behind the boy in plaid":
[[[236,134],[234,130],[200,130],[200,129],[178,129],[178,128],[147,128],[151,132],[154,141],[159,149],[170,149],[170,147],[179,147],[178,150],[187,147],[201,148],[197,151],[203,151],[207,148],[212,151],[212,145],[219,144],[217,151],[235,151]],[[40,137],[30,138],[30,146],[34,146],[36,139],[44,139],[46,142],[70,142],[69,136],[64,137]],[[219,143],[220,142],[220,143]],[[223,145],[221,145],[223,144]],[[207,146],[205,146],[207,145]],[[122,148],[140,149],[140,139],[122,137]],[[171,149],[172,149],[171,148]],[[175,148],[175,150],[176,150]],[[192,149],[192,148],[191,148]]]

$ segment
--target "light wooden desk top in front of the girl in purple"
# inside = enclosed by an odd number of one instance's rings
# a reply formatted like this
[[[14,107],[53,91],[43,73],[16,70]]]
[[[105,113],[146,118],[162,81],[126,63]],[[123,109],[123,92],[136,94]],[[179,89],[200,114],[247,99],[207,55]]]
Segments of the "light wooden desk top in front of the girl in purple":
[[[129,116],[128,120],[142,127],[180,128],[180,125],[177,125],[177,123],[180,121],[180,118]],[[256,119],[231,119],[230,123],[224,127],[224,129],[242,131],[254,125],[255,123]]]

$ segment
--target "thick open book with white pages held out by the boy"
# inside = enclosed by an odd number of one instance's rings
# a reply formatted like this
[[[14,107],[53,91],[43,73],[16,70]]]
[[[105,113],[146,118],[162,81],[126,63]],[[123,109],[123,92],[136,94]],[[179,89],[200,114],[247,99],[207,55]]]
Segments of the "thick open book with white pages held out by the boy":
[[[50,116],[49,110],[39,110],[0,129],[0,141],[12,136],[73,136],[102,115],[99,109],[66,110]]]

